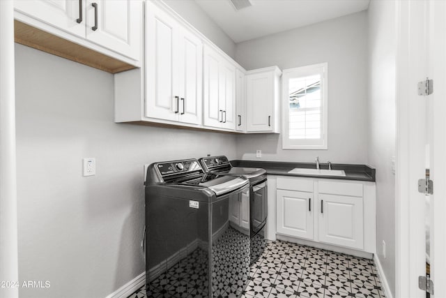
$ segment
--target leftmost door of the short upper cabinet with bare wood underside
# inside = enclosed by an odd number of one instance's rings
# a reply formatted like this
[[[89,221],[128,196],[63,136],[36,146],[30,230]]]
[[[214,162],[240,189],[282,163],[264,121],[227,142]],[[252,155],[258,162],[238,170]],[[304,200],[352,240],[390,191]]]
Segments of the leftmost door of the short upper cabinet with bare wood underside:
[[[14,9],[63,31],[85,38],[86,0],[20,0]]]

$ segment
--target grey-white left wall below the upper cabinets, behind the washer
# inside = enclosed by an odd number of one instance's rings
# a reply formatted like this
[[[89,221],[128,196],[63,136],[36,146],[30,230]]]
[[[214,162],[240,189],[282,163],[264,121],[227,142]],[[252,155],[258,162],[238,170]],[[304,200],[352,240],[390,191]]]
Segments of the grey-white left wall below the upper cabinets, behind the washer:
[[[15,49],[19,277],[51,283],[20,297],[105,297],[145,268],[144,164],[235,158],[235,137],[115,124],[113,75]]]

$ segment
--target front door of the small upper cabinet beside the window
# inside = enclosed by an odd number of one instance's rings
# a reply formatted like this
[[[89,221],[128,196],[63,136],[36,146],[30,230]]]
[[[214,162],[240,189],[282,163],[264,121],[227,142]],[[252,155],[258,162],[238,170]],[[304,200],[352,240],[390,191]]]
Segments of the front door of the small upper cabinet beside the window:
[[[246,76],[247,131],[272,131],[274,117],[274,75]]]

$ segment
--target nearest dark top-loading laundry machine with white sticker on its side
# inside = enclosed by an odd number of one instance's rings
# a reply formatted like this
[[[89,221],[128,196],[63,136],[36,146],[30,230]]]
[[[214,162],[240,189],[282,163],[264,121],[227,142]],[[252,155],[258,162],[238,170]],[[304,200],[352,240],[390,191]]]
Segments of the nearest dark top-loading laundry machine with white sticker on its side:
[[[229,217],[231,202],[249,197],[249,180],[205,173],[188,159],[149,165],[145,189],[147,290],[170,297],[242,292],[250,234]]]

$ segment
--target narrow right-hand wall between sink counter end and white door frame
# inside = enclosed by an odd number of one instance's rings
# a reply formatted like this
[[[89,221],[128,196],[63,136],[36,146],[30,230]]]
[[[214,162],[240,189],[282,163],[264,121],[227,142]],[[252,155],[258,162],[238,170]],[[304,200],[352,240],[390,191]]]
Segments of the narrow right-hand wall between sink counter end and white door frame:
[[[369,6],[369,163],[376,167],[376,251],[392,295],[395,292],[395,68],[396,1]],[[386,258],[381,248],[386,244]]]

